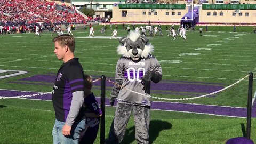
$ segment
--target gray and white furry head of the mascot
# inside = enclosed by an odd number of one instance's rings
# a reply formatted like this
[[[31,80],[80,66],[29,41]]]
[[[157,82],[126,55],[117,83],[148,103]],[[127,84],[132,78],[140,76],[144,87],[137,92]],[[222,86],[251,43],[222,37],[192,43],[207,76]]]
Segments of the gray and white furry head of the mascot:
[[[148,43],[148,38],[138,32],[131,31],[127,37],[119,39],[121,43],[117,47],[117,53],[132,60],[147,58],[153,52],[153,45]]]

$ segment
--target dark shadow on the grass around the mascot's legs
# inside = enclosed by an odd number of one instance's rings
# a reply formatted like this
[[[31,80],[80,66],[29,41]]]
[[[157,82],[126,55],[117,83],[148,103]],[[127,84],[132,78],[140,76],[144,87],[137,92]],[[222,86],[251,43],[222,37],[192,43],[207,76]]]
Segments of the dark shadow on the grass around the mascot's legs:
[[[149,125],[149,143],[153,143],[158,137],[159,133],[163,130],[169,130],[172,128],[172,124],[161,120],[151,120]],[[130,144],[135,140],[135,127],[126,129],[122,144]]]

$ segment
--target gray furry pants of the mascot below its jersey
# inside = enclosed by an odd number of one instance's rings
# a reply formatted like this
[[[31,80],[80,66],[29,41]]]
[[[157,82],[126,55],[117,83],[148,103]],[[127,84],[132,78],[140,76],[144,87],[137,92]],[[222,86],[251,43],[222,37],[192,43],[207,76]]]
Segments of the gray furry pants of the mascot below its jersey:
[[[115,118],[111,124],[106,143],[121,143],[129,118],[133,113],[137,143],[149,143],[150,108],[117,102]],[[124,141],[125,143],[125,141]]]

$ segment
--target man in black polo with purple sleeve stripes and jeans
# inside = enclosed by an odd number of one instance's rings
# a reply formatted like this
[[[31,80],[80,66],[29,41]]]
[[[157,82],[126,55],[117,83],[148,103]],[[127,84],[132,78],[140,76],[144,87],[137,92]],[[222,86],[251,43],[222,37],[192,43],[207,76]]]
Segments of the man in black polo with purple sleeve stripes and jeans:
[[[55,111],[53,143],[78,143],[85,130],[84,70],[74,57],[75,39],[67,34],[52,39],[54,54],[63,61],[55,78],[52,103]],[[65,99],[65,100],[64,100]]]

